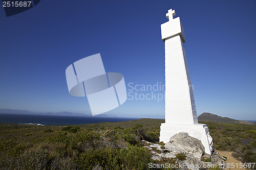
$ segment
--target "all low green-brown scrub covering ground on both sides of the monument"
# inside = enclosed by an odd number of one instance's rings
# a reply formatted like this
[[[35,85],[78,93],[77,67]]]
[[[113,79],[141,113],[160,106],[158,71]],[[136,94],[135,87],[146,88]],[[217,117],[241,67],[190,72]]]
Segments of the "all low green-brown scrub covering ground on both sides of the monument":
[[[148,169],[148,163],[175,164],[186,156],[153,161],[143,147],[159,142],[161,119],[76,126],[0,124],[0,169]],[[202,122],[203,123],[203,122]],[[214,148],[256,162],[256,126],[204,122]],[[164,149],[164,148],[162,148]],[[163,152],[167,152],[163,150]],[[208,161],[208,160],[205,160]]]

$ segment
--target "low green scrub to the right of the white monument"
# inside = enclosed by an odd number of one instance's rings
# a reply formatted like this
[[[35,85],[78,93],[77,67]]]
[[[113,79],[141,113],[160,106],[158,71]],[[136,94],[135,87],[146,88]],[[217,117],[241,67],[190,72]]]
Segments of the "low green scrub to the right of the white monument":
[[[237,159],[241,158],[247,163],[256,162],[255,125],[200,123],[207,124],[215,150],[233,151],[233,156]],[[247,139],[250,142],[243,144],[241,139]]]

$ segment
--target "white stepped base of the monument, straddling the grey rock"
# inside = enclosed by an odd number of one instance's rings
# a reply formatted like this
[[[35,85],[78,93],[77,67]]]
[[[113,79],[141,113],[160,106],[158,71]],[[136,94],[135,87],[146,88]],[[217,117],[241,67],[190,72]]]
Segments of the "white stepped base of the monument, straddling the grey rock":
[[[210,136],[208,127],[206,124],[194,124],[194,125],[175,125],[163,123],[160,126],[160,138],[159,141],[167,143],[173,135],[180,132],[186,132],[189,136],[195,137],[201,140],[205,153],[211,155],[212,153],[212,137]]]

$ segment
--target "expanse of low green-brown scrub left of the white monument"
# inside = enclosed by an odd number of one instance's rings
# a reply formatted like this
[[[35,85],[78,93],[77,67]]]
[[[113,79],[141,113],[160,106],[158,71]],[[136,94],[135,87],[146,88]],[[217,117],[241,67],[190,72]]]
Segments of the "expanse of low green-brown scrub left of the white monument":
[[[159,129],[84,126],[0,126],[0,169],[148,169],[160,163],[141,143],[158,142]]]

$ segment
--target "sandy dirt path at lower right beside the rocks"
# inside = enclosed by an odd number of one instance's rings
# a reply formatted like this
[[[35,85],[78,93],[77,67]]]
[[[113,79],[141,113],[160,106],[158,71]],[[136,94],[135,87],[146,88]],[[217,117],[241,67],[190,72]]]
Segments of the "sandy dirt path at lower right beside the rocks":
[[[227,161],[225,161],[225,162],[230,163],[230,165],[229,165],[230,167],[226,168],[227,170],[228,169],[230,169],[230,170],[244,170],[244,169],[246,169],[246,168],[240,168],[239,167],[239,165],[240,165],[240,163],[242,163],[242,161],[237,160],[236,158],[234,158],[232,156],[233,152],[228,152],[228,151],[218,151],[218,152],[219,152],[220,155],[227,157]],[[234,167],[232,168],[231,165],[234,165]]]

